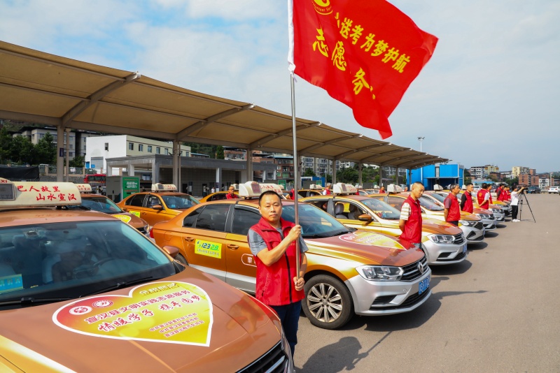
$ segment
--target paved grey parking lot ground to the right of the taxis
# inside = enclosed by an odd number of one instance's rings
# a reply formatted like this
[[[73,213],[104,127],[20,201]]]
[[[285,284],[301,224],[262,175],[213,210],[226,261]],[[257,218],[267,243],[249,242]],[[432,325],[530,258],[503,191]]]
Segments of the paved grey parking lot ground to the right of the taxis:
[[[302,314],[297,372],[560,372],[560,198],[526,200],[521,222],[433,268],[433,294],[413,312],[356,316],[341,330]]]

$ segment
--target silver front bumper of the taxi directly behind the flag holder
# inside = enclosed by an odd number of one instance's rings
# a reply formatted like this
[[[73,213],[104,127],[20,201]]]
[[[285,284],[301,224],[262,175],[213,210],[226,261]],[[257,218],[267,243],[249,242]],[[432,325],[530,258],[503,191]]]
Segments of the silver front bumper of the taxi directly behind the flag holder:
[[[363,316],[402,314],[416,309],[432,294],[431,288],[419,294],[420,283],[430,281],[432,271],[413,281],[369,281],[360,275],[345,281],[354,302],[354,312]]]

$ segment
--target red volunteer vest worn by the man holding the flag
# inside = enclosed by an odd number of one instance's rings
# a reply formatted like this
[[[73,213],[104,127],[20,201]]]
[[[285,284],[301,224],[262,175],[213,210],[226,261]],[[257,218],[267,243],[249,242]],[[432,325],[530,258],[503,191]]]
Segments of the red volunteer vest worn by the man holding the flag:
[[[295,224],[284,219],[280,219],[280,222],[283,236],[286,237]],[[282,241],[280,233],[270,226],[265,219],[261,218],[251,229],[265,240],[269,250],[274,249]],[[304,291],[295,290],[293,283],[293,278],[296,276],[295,241],[288,246],[283,257],[269,267],[262,263],[258,256],[255,256],[255,261],[257,263],[255,298],[265,305],[272,306],[289,305],[304,298]]]

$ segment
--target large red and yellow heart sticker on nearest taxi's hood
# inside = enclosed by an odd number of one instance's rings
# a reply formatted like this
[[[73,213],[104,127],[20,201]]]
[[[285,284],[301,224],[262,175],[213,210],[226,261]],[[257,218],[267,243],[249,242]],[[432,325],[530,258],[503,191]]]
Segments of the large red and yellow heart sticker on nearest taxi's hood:
[[[60,307],[52,321],[92,337],[209,346],[212,302],[199,286],[158,281],[129,295],[97,295]]]

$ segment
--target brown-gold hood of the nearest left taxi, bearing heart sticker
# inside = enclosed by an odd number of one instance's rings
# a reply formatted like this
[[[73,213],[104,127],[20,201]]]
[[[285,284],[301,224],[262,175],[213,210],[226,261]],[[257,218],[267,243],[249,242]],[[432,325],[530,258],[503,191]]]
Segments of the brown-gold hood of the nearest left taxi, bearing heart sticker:
[[[0,356],[24,372],[236,371],[281,335],[271,310],[192,268],[102,295],[4,310],[0,323]]]

